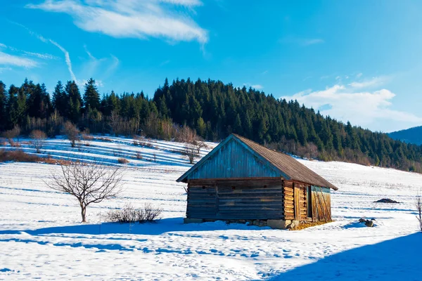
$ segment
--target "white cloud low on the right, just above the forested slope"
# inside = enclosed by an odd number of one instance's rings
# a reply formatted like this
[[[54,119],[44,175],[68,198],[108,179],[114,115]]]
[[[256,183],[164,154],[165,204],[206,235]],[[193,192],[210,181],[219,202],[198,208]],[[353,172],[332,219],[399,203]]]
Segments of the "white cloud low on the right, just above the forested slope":
[[[378,130],[381,126],[380,120],[383,120],[382,124],[388,124],[389,121],[421,124],[421,117],[409,112],[392,110],[392,99],[395,98],[395,93],[388,89],[364,91],[360,87],[363,86],[363,83],[358,87],[356,85],[356,83],[350,83],[347,86],[335,84],[322,91],[306,90],[282,98],[298,100],[299,103],[303,103],[307,107],[313,107],[315,110],[321,109],[323,115],[330,115],[343,122],[350,121],[352,124],[370,129]],[[366,86],[373,85],[376,83],[369,83],[369,81],[366,83]]]

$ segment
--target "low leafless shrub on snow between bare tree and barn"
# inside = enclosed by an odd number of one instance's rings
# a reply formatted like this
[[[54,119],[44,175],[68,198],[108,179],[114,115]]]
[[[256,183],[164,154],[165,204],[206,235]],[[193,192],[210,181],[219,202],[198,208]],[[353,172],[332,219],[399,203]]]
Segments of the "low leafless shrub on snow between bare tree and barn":
[[[151,223],[160,218],[161,212],[161,209],[153,208],[151,204],[145,204],[140,209],[132,204],[125,204],[121,209],[108,211],[104,218],[112,223]]]

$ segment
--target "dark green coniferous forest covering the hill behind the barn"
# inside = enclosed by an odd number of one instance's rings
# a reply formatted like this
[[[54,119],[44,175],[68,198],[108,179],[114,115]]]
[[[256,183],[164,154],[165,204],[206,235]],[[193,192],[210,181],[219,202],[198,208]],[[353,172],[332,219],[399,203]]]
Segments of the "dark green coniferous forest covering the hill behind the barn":
[[[53,93],[25,79],[21,86],[0,81],[0,131],[34,129],[56,136],[65,121],[81,131],[172,139],[188,129],[207,141],[238,133],[268,148],[324,161],[339,160],[422,172],[422,146],[386,133],[324,117],[293,100],[222,81],[167,79],[153,98],[141,93],[101,95],[94,79],[83,89],[58,81]]]

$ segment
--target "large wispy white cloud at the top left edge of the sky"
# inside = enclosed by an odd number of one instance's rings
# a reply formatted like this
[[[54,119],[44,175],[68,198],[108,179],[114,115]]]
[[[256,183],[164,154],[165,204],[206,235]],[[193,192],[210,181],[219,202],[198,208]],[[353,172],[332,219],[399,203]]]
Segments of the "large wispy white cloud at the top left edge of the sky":
[[[163,5],[165,4],[165,5]],[[188,16],[198,0],[46,0],[27,8],[68,13],[75,25],[87,32],[111,37],[164,38],[170,41],[208,41],[206,30]],[[186,7],[184,13],[174,6]]]

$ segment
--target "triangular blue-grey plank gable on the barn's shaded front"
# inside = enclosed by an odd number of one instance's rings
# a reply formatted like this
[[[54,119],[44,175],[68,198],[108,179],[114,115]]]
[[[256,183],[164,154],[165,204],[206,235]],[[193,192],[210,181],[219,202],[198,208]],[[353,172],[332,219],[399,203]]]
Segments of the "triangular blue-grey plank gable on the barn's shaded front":
[[[288,176],[248,145],[229,136],[208,155],[186,171],[178,182],[196,178],[255,178]]]

